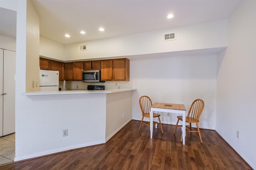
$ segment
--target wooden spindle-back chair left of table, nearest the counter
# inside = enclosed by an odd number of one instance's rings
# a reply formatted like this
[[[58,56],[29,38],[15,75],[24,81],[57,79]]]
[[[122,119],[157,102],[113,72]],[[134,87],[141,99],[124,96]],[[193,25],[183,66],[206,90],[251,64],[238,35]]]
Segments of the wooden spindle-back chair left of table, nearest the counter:
[[[152,101],[148,96],[141,96],[140,99],[139,99],[139,104],[140,104],[140,109],[141,109],[141,112],[142,112],[142,119],[141,119],[141,122],[140,122],[140,128],[141,128],[142,123],[144,125],[150,126],[150,122],[144,123],[143,119],[144,119],[144,117],[149,117],[150,118],[150,107],[152,106]],[[157,124],[160,124],[161,131],[162,131],[162,133],[164,133],[163,129],[162,129],[162,124],[161,124],[161,121],[160,121],[160,114],[153,113],[153,118],[154,117],[158,117],[159,123],[156,122],[156,121],[153,121],[153,124],[156,124],[156,126],[157,126]],[[139,131],[140,131],[140,128],[139,128]]]

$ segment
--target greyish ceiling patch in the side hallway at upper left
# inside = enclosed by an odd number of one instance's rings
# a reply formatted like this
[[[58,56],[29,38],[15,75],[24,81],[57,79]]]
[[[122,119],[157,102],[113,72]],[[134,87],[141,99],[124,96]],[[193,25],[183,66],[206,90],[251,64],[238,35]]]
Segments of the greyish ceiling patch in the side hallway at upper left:
[[[0,8],[0,33],[16,37],[16,11]]]

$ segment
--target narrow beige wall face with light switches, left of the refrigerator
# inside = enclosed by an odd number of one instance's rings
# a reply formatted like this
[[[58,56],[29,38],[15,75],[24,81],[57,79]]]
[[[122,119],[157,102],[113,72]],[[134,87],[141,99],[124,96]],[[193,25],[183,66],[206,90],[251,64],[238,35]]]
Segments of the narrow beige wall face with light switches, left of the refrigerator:
[[[36,81],[39,81],[39,16],[30,0],[27,1],[26,30],[26,91],[39,91],[36,87]]]

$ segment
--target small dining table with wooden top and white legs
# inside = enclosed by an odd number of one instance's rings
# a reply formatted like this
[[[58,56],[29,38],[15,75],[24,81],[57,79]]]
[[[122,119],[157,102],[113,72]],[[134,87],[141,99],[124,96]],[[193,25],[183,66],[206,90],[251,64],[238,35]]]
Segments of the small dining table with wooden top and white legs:
[[[182,114],[182,141],[185,145],[186,137],[186,107],[184,104],[169,104],[169,103],[154,103],[150,107],[150,138],[153,137],[153,111],[164,112],[164,113],[178,113]]]

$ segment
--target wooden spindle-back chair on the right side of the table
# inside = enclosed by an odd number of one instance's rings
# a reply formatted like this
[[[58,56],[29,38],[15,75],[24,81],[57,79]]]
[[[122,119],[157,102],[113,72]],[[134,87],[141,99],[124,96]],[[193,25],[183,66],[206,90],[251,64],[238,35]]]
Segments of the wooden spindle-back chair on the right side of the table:
[[[202,137],[201,137],[201,133],[199,130],[199,117],[202,114],[202,111],[204,109],[204,101],[201,99],[196,99],[194,100],[194,102],[191,104],[190,109],[188,111],[188,116],[186,116],[186,122],[189,123],[189,126],[186,126],[186,128],[189,129],[189,131],[186,130],[186,132],[198,132],[199,133],[199,137],[200,137],[200,141],[202,143]],[[174,129],[174,134],[176,132],[177,126],[182,126],[182,125],[178,125],[179,121],[183,121],[182,120],[182,116],[177,116],[178,121],[176,123],[175,129]],[[191,123],[196,123],[196,127],[198,131],[193,131],[191,128]],[[181,139],[180,141],[182,141],[182,135],[181,135]]]

